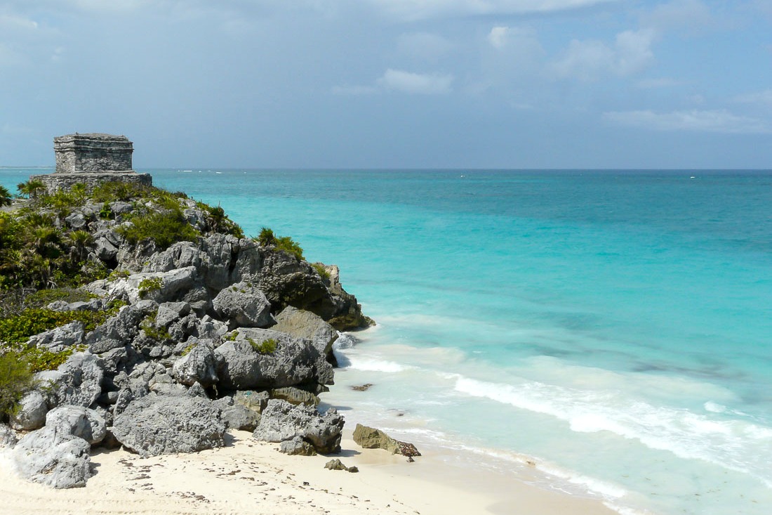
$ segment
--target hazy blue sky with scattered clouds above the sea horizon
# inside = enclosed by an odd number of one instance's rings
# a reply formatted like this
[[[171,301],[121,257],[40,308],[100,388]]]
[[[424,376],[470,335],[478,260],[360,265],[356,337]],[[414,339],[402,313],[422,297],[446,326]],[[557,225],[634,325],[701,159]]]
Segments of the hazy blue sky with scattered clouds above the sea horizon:
[[[0,0],[0,165],[772,168],[772,0]]]

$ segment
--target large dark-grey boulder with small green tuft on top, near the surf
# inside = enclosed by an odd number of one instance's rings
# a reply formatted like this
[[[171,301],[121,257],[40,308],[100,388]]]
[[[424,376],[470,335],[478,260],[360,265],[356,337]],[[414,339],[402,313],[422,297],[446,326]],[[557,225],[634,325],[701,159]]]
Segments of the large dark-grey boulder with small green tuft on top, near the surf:
[[[235,341],[215,349],[217,375],[230,390],[276,388],[298,384],[332,384],[333,370],[309,340],[269,329],[239,328]],[[254,347],[273,340],[276,350],[259,353]],[[254,344],[254,345],[253,345]]]

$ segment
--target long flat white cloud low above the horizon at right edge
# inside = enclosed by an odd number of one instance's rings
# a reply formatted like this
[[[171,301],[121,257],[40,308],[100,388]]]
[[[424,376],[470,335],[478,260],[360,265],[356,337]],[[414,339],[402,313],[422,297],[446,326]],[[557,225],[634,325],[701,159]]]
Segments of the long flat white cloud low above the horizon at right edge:
[[[655,131],[697,131],[725,134],[761,134],[770,132],[764,121],[736,116],[729,111],[611,111],[603,114],[606,121],[628,127]]]

